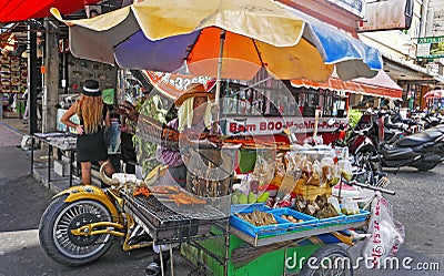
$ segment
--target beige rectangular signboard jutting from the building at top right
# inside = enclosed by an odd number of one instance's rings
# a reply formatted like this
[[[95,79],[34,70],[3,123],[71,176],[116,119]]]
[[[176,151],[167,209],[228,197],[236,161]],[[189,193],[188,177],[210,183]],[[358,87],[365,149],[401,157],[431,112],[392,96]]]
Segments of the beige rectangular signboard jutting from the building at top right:
[[[412,24],[413,0],[375,1],[366,3],[357,31],[403,30]]]

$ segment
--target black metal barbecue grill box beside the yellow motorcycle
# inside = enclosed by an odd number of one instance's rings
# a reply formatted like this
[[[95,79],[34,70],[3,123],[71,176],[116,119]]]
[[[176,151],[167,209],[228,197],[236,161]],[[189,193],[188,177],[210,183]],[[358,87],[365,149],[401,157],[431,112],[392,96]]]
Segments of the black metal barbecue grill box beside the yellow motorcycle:
[[[193,236],[205,235],[215,221],[223,221],[223,213],[206,204],[190,217],[170,209],[154,196],[133,197],[125,193],[122,196],[127,200],[125,212],[134,215],[134,219],[144,226],[157,244],[184,242]],[[191,214],[191,211],[188,212]]]

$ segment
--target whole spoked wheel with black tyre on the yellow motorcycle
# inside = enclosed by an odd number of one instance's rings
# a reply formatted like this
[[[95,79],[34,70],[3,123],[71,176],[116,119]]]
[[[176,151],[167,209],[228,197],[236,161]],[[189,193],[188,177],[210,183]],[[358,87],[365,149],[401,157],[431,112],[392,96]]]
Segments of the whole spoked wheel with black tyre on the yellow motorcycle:
[[[109,222],[111,213],[92,200],[64,202],[57,197],[44,211],[39,225],[40,245],[47,255],[63,265],[81,266],[97,260],[111,246],[112,236],[78,236],[71,229],[88,223]]]

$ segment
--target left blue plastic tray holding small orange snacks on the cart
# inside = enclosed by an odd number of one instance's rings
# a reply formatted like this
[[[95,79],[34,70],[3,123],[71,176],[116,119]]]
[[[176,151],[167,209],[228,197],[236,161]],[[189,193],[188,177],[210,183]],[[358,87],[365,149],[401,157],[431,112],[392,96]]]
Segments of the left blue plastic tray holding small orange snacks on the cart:
[[[259,211],[268,212],[268,213],[270,212],[269,207],[262,206],[262,207],[255,207],[255,208],[250,207],[250,208],[243,209],[238,213],[241,213],[241,214],[251,213],[254,209],[259,209]],[[260,238],[286,233],[287,228],[291,225],[290,222],[281,218],[278,215],[273,214],[273,216],[276,219],[278,224],[265,225],[265,226],[254,226],[253,224],[251,224],[251,223],[238,217],[235,214],[233,214],[230,216],[230,225],[239,231],[246,233],[248,235],[250,235],[252,237],[258,236]]]

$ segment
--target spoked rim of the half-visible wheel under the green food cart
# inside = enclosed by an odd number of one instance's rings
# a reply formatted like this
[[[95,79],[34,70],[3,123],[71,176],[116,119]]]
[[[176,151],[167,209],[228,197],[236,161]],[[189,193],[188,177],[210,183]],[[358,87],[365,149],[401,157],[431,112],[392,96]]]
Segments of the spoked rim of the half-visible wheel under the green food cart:
[[[321,259],[319,268],[313,270],[312,276],[351,276],[350,267],[347,267],[347,263],[343,260],[343,254],[331,254]]]

